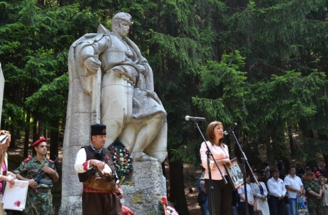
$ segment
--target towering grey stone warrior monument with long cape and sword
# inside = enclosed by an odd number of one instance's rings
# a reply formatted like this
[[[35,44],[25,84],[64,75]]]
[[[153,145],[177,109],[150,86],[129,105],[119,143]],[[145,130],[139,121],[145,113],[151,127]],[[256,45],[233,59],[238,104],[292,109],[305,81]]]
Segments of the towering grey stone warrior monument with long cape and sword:
[[[133,198],[135,192],[166,195],[166,181],[161,174],[140,175],[147,173],[142,170],[146,166],[161,172],[160,164],[166,158],[167,113],[154,92],[153,71],[147,59],[127,37],[131,23],[130,14],[119,12],[112,19],[112,31],[100,25],[97,33],[84,35],[70,48],[61,214],[81,211],[81,185],[74,161],[81,146],[90,144],[90,125],[94,123],[107,126],[105,147],[119,138],[133,162],[139,163],[132,176],[132,180],[138,180],[133,181],[136,187],[123,188],[125,197],[128,193]],[[155,183],[153,187],[148,184],[152,189],[145,189],[144,184],[138,188],[144,177]]]

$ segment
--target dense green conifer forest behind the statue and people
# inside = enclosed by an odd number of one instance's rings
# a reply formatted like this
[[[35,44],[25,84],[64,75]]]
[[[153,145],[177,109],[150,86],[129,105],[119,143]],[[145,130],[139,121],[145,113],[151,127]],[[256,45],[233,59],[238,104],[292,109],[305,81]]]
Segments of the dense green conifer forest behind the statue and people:
[[[168,112],[168,194],[181,214],[188,214],[183,163],[199,164],[202,141],[186,115],[226,128],[237,122],[243,146],[265,147],[268,160],[320,155],[328,164],[327,7],[326,0],[2,1],[2,128],[13,134],[12,147],[23,136],[25,157],[40,135],[57,155],[69,48],[99,24],[110,29],[123,11],[133,17],[129,37],[152,66]]]

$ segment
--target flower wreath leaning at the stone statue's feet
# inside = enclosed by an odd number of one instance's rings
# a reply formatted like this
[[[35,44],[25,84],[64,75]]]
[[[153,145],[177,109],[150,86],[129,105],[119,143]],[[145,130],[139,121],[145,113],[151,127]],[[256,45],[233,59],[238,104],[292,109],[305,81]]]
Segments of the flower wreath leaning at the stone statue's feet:
[[[118,138],[108,146],[108,150],[112,155],[117,177],[120,179],[124,176],[124,181],[130,181],[133,167],[129,150]]]

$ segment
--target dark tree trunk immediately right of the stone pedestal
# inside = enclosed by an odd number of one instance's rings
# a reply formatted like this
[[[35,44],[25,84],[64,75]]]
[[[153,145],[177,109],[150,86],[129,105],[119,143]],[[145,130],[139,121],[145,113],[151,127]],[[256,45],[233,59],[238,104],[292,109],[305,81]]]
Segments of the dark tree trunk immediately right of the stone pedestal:
[[[187,200],[185,196],[185,184],[183,183],[183,163],[181,161],[171,162],[172,155],[170,150],[169,166],[170,166],[170,199],[176,211],[180,215],[189,215]]]

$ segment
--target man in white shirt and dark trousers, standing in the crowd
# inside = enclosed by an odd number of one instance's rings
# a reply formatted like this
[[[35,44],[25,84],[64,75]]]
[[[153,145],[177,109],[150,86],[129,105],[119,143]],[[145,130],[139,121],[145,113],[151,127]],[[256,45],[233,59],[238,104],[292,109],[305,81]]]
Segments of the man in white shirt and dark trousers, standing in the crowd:
[[[271,215],[284,215],[284,197],[286,188],[281,179],[279,179],[279,170],[275,168],[272,177],[268,180],[267,186],[269,189],[269,208]]]

